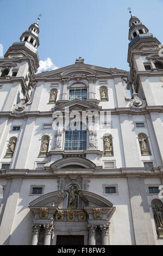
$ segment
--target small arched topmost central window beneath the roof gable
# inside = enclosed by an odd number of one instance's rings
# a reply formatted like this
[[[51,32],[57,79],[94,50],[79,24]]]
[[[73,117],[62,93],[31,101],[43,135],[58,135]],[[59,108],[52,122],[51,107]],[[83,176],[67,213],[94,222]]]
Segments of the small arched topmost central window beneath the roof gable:
[[[76,83],[71,86],[69,91],[69,100],[86,100],[87,99],[87,90],[84,84]]]

